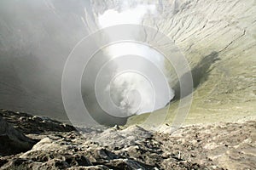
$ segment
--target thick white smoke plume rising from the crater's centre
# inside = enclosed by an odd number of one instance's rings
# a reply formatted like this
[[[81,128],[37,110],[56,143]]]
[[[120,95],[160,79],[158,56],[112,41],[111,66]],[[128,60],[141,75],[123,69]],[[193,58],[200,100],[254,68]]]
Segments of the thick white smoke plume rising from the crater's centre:
[[[100,29],[123,24],[140,25],[146,14],[156,13],[154,4],[129,8],[124,3],[119,11],[106,10],[97,21]],[[135,30],[132,36],[140,35]],[[118,42],[103,48],[102,54],[111,60],[105,63],[108,66],[103,68],[104,76],[98,76],[96,82],[96,98],[103,111],[113,116],[131,116],[160,109],[173,98],[171,88],[171,93],[166,93],[160,83],[153,85],[151,82],[151,79],[165,77],[164,56],[153,48],[137,42]],[[97,83],[101,85],[97,86]]]

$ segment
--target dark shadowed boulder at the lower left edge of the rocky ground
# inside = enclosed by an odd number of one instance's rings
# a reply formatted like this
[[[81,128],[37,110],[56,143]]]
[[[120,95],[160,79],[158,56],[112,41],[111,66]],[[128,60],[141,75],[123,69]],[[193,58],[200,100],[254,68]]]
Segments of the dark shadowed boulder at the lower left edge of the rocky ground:
[[[31,150],[36,142],[27,138],[0,116],[0,156]]]

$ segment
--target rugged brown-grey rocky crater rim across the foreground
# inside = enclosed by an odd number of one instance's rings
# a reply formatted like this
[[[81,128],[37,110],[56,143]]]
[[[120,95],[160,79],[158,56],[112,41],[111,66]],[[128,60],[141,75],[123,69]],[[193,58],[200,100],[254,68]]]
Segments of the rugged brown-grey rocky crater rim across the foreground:
[[[256,122],[181,127],[72,126],[0,111],[0,169],[255,169]]]

